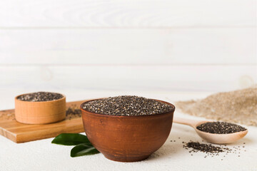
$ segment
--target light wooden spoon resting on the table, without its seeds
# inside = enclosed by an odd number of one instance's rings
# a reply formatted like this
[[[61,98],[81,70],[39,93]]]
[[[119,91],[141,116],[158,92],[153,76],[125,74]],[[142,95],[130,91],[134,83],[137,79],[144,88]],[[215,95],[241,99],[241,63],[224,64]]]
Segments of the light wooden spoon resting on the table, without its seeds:
[[[228,144],[231,142],[235,142],[243,138],[247,133],[248,130],[244,130],[238,133],[230,133],[230,134],[213,134],[213,133],[205,133],[201,130],[198,130],[196,127],[201,125],[202,123],[208,123],[210,121],[200,121],[200,120],[189,120],[183,118],[173,118],[173,123],[181,123],[183,125],[189,125],[196,130],[196,133],[206,140],[207,142],[211,142],[214,144]]]

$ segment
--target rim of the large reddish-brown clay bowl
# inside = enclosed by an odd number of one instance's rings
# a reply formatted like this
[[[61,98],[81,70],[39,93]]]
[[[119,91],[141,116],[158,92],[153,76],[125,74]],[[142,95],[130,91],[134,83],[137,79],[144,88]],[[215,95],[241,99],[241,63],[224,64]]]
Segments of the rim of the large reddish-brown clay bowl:
[[[85,101],[84,103],[89,103],[91,101],[94,101],[94,100],[100,100],[100,99],[104,99],[104,98],[96,98],[96,99],[92,99],[92,100],[88,100],[88,101]],[[157,100],[157,99],[153,99],[153,98],[150,98],[151,100]],[[166,101],[163,101],[163,100],[157,100],[159,102],[162,102],[162,103],[166,103],[168,105],[171,105],[172,106],[172,110],[169,110],[168,112],[165,112],[165,113],[158,113],[158,114],[154,114],[154,115],[107,115],[107,114],[103,114],[103,113],[94,113],[94,112],[91,112],[89,110],[85,110],[84,108],[82,108],[82,105],[84,105],[84,103],[81,103],[80,105],[80,109],[82,111],[85,111],[87,113],[90,113],[91,115],[101,115],[101,116],[106,116],[106,117],[113,117],[113,118],[132,118],[132,117],[155,117],[155,116],[161,116],[161,115],[166,115],[166,114],[169,114],[169,113],[174,113],[175,111],[175,105],[171,104],[171,103],[168,103]],[[82,113],[83,115],[84,113]]]

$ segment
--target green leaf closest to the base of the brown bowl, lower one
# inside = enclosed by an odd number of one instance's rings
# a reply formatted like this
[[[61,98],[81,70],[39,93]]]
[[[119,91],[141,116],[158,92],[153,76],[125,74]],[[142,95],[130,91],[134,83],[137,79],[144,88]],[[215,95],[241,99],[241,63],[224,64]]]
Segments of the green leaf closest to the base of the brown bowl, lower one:
[[[99,150],[96,150],[96,148],[90,142],[76,145],[71,149],[71,157],[79,157],[82,155],[94,155],[97,153],[99,153]]]

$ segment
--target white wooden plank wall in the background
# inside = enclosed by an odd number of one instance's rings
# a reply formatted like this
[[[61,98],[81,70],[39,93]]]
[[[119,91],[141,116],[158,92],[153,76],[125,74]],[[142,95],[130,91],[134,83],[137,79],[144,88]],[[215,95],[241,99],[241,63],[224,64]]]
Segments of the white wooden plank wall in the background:
[[[256,0],[0,1],[2,90],[220,91],[256,81]]]

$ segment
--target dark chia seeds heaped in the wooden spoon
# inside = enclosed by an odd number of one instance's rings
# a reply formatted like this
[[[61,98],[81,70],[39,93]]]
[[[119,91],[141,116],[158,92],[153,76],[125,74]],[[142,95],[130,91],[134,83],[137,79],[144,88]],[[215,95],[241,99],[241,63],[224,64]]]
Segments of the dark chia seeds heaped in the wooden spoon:
[[[234,123],[226,123],[226,122],[209,122],[203,123],[196,127],[198,130],[201,130],[206,133],[214,133],[214,134],[230,134],[237,133],[243,130],[247,130],[240,125],[236,125]]]

